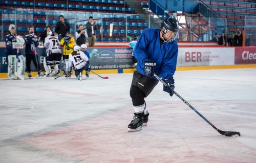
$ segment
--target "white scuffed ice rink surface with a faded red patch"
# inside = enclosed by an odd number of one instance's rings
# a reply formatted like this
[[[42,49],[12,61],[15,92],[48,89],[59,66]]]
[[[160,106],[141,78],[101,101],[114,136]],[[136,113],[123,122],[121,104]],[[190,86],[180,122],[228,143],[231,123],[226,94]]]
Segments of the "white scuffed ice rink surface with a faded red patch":
[[[175,90],[219,134],[159,83],[146,98],[150,117],[133,117],[132,74],[78,81],[0,80],[0,162],[255,162],[256,68],[180,71]]]

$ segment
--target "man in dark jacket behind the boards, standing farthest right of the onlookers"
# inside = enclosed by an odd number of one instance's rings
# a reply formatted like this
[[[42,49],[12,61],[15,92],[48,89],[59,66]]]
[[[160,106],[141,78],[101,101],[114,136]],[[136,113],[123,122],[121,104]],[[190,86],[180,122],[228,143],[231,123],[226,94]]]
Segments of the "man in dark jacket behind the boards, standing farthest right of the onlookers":
[[[97,22],[93,21],[92,16],[89,17],[89,21],[86,24],[86,29],[88,33],[89,46],[94,46],[96,39]]]

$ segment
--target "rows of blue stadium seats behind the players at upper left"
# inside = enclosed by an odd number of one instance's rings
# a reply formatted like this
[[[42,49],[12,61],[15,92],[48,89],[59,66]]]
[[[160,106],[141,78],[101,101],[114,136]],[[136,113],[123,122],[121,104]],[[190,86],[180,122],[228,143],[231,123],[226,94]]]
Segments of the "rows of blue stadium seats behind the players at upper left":
[[[84,11],[96,12],[93,13],[94,19],[97,21],[98,30],[96,31],[97,35],[101,35],[100,28],[103,27],[102,33],[106,39],[101,39],[104,41],[123,41],[125,37],[125,25],[129,26],[127,32],[130,35],[140,33],[142,28],[141,25],[144,25],[144,20],[139,15],[129,15],[126,19],[126,13],[134,13],[134,10],[127,6],[124,1],[114,1],[114,0],[71,0],[68,2],[59,0],[59,1],[17,1],[17,0],[6,0],[0,1],[0,4],[5,4],[5,7],[16,7],[16,14],[19,15],[17,18],[18,23],[18,32],[27,32],[27,27],[30,24],[35,27],[35,32],[39,35],[41,32],[45,31],[46,25],[50,25],[52,31],[55,31],[55,25],[57,24],[59,15],[64,15],[70,25],[70,32],[75,32],[75,26],[79,24],[85,25],[88,21],[88,14],[84,14]],[[2,7],[0,7],[2,8]],[[65,11],[63,11],[65,10]],[[71,12],[66,12],[70,10]],[[82,13],[83,12],[83,13]],[[100,13],[102,12],[102,13]],[[125,12],[125,13],[123,13]],[[13,9],[4,9],[4,14],[15,14]],[[103,14],[105,13],[105,14]],[[111,14],[109,14],[111,13]],[[121,13],[121,14],[117,14]],[[76,21],[77,18],[85,18],[86,20]],[[102,21],[101,21],[102,19]],[[134,20],[134,21],[133,21]],[[8,27],[10,23],[14,23],[15,19],[13,16],[7,16],[2,18],[4,22],[4,27]],[[127,21],[127,22],[126,22]],[[113,24],[113,37],[109,38],[110,33],[110,24]],[[29,25],[29,26],[30,26]],[[76,27],[78,28],[78,27]],[[6,28],[4,28],[6,31]],[[8,30],[7,30],[8,32]],[[4,33],[6,34],[6,33]],[[97,38],[99,38],[97,36]],[[124,38],[125,39],[125,38]],[[125,39],[126,40],[126,39]]]

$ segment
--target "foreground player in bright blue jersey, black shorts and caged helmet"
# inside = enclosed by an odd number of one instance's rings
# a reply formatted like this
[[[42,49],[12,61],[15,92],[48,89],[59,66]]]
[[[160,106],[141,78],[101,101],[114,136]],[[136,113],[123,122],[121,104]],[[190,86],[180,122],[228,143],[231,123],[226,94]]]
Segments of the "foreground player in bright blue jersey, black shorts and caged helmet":
[[[138,61],[133,74],[130,96],[134,107],[134,117],[128,125],[128,131],[138,131],[147,125],[148,111],[144,98],[146,98],[158,80],[155,73],[168,83],[163,90],[170,96],[174,94],[174,73],[176,71],[178,44],[175,41],[179,32],[175,17],[165,18],[161,23],[161,30],[145,29],[140,35],[133,54]]]

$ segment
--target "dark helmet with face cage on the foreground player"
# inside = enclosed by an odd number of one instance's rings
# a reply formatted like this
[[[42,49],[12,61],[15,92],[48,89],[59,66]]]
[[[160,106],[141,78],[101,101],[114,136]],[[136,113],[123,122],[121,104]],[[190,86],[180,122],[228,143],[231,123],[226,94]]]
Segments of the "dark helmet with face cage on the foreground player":
[[[172,42],[173,40],[175,40],[179,33],[179,25],[176,18],[174,16],[166,17],[161,23],[161,31],[164,42]],[[173,37],[168,38],[166,36],[166,33],[168,31],[174,32]]]

